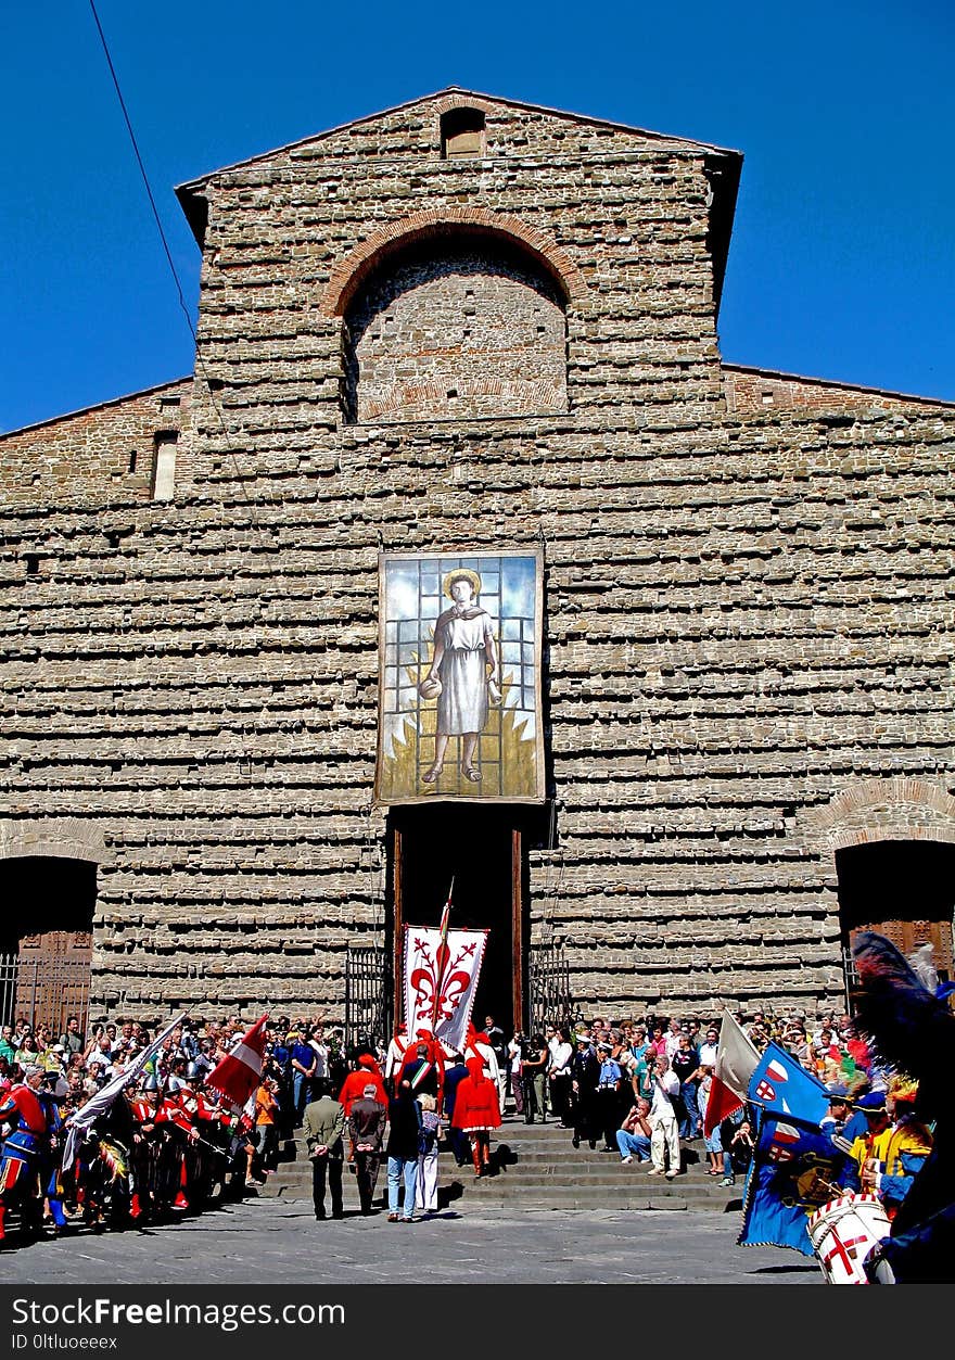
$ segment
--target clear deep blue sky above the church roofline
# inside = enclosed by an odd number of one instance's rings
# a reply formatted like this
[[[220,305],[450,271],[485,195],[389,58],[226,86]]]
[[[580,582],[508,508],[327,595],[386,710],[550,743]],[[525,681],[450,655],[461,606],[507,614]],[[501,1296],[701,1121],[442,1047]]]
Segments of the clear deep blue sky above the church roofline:
[[[955,400],[947,0],[97,0],[185,296],[173,186],[461,84],[745,154],[729,362]],[[3,5],[0,430],[192,371],[88,0]]]

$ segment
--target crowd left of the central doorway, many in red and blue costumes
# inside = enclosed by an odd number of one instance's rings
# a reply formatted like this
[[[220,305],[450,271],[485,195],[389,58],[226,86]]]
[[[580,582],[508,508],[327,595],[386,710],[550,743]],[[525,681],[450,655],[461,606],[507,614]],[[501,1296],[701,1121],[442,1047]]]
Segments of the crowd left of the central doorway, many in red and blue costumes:
[[[58,1035],[22,1019],[3,1025],[0,1242],[11,1213],[29,1240],[45,1231],[146,1227],[264,1186],[283,1133],[301,1122],[301,1069],[310,1083],[321,1062],[335,1081],[347,1064],[340,1030],[325,1038],[322,1025],[283,1019],[269,1030],[254,1103],[235,1110],[207,1078],[246,1030],[239,1016],[186,1016],[139,1072],[152,1043],[139,1021],[101,1020],[84,1034],[71,1016]],[[127,1069],[135,1078],[120,1081],[121,1096],[87,1121],[86,1107],[97,1108]]]

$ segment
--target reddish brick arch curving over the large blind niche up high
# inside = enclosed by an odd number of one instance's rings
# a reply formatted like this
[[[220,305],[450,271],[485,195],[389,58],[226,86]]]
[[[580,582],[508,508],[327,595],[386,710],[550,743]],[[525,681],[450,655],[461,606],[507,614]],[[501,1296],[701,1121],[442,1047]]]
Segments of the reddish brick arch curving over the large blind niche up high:
[[[328,317],[344,316],[369,275],[397,250],[429,237],[467,233],[499,237],[522,246],[544,267],[555,280],[566,302],[581,305],[588,295],[586,280],[570,256],[555,241],[529,227],[509,212],[488,208],[433,208],[414,212],[408,218],[373,231],[370,237],[340,260],[332,269],[322,299],[322,313]]]

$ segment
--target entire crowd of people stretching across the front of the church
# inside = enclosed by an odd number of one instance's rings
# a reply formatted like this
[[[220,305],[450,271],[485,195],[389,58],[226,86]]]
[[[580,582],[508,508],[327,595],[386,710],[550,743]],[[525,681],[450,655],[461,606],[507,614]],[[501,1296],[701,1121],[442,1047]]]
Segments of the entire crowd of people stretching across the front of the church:
[[[833,1129],[843,1133],[856,1111],[858,1127],[850,1133],[868,1130],[862,1153],[873,1151],[875,1134],[884,1132],[886,1096],[892,1102],[898,1089],[888,1091],[888,1074],[875,1066],[848,1015],[827,1012],[807,1023],[803,1015],[756,1010],[737,1021],[758,1050],[774,1040],[819,1076],[830,1089]],[[706,1172],[726,1187],[752,1151],[747,1107],[703,1130],[717,1017],[594,1015],[507,1039],[487,1016],[482,1031],[471,1027],[461,1051],[438,1044],[427,1030],[408,1035],[404,1027],[388,1044],[367,1038],[347,1051],[339,1027],[276,1016],[264,1031],[258,1089],[238,1111],[207,1078],[246,1028],[239,1016],[185,1017],[122,1096],[83,1127],[76,1155],[64,1164],[76,1114],[137,1066],[151,1035],[137,1021],[105,1020],[83,1034],[78,1017],[58,1035],[24,1021],[4,1025],[0,1240],[8,1210],[19,1216],[22,1236],[31,1238],[141,1227],[241,1198],[267,1183],[282,1141],[298,1129],[317,1219],[329,1216],[326,1195],[331,1217],[343,1217],[347,1168],[361,1212],[386,1209],[393,1223],[437,1212],[439,1148],[458,1167],[472,1166],[476,1178],[487,1175],[491,1134],[505,1111],[526,1123],[550,1118],[569,1130],[574,1148],[615,1153],[623,1166],[649,1163],[650,1175],[669,1179],[683,1174],[688,1144],[701,1144]],[[903,1091],[903,1114],[906,1099]],[[922,1133],[903,1140],[907,1155],[926,1152]],[[868,1186],[862,1163],[884,1159],[860,1157],[860,1183]],[[382,1160],[388,1186],[377,1205]],[[901,1160],[892,1170],[902,1172]]]

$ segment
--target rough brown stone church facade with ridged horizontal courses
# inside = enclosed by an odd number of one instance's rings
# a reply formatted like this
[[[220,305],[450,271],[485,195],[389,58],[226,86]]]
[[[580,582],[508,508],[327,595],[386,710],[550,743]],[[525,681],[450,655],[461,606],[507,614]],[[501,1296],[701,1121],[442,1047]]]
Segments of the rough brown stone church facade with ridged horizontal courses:
[[[441,158],[456,106],[480,156]],[[378,554],[521,544],[532,941],[584,1009],[838,1002],[824,811],[955,828],[955,409],[722,364],[739,167],[450,91],[180,190],[195,379],[0,439],[0,817],[106,847],[103,1006],[340,1015],[388,930]]]

